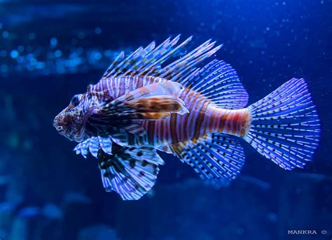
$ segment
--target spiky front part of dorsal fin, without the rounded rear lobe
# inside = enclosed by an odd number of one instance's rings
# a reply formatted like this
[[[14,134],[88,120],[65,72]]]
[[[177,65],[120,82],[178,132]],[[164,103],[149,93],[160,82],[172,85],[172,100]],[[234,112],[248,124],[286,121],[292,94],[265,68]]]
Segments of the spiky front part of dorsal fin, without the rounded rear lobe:
[[[157,47],[152,42],[146,48],[137,48],[127,58],[121,52],[104,73],[103,78],[116,76],[160,76],[167,80],[179,81],[190,75],[197,64],[221,48],[221,45],[214,47],[215,42],[211,43],[209,40],[185,55],[184,48],[191,41],[192,37],[177,45],[179,38],[180,36],[173,39],[167,38]],[[177,58],[167,66],[162,66],[170,57]]]

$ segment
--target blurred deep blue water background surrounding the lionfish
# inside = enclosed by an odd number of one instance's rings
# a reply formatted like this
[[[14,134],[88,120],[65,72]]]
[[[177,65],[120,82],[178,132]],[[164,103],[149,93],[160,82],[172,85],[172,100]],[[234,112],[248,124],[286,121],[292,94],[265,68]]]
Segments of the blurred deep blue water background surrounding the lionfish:
[[[331,239],[331,9],[326,0],[0,0],[0,239]],[[121,50],[177,34],[193,36],[191,48],[223,43],[216,58],[237,70],[249,104],[305,78],[321,120],[313,161],[285,171],[242,141],[240,176],[216,188],[160,153],[166,164],[142,199],[105,192],[97,160],[76,155],[53,119]]]

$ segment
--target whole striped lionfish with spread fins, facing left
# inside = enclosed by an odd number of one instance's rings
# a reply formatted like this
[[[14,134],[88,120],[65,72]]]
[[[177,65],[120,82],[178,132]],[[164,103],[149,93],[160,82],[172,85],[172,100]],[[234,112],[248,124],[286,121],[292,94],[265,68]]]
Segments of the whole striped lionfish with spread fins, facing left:
[[[247,106],[236,71],[213,59],[206,41],[186,53],[191,37],[123,52],[96,85],[76,94],[55,117],[74,150],[99,162],[106,191],[141,198],[155,184],[160,150],[203,179],[228,183],[244,164],[240,139],[283,169],[303,168],[319,142],[319,118],[303,78],[293,78]],[[167,64],[166,64],[167,63]],[[247,107],[246,107],[247,106]]]

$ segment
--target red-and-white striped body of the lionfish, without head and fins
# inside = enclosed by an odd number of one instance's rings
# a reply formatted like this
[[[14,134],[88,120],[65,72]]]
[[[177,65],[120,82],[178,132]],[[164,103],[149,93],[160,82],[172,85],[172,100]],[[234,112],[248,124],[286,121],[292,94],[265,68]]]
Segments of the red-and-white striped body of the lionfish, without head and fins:
[[[154,77],[117,77],[102,79],[96,85],[90,85],[88,92],[102,92],[97,94],[99,101],[116,99],[132,90],[152,83],[165,82],[163,78]],[[146,136],[144,143],[153,146],[172,145],[197,141],[207,133],[219,132],[244,137],[249,129],[249,111],[243,109],[222,109],[199,92],[188,88],[179,92],[188,108],[189,113],[179,115],[172,113],[167,119],[141,121]],[[130,144],[137,143],[137,136],[129,139]]]

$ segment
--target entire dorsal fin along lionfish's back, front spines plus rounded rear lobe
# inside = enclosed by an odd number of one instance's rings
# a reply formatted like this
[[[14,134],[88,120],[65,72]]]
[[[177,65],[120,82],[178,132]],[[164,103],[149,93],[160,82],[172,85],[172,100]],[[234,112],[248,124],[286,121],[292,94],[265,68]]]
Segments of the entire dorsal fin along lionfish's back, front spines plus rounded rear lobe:
[[[187,38],[179,45],[177,45],[179,36],[174,39],[167,38],[157,47],[152,42],[146,48],[137,48],[127,58],[121,52],[104,73],[103,78],[116,76],[164,78],[200,92],[221,108],[244,108],[247,105],[248,94],[232,66],[215,59],[202,69],[197,68],[200,62],[214,55],[221,45],[214,47],[216,42],[208,40],[185,54],[183,52],[191,38]],[[176,58],[167,66],[162,66],[170,57]]]

